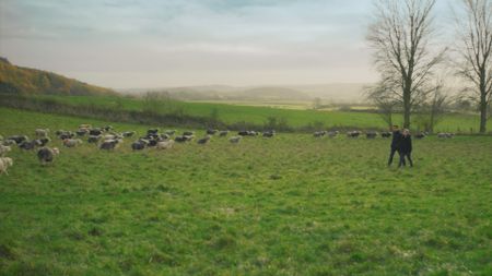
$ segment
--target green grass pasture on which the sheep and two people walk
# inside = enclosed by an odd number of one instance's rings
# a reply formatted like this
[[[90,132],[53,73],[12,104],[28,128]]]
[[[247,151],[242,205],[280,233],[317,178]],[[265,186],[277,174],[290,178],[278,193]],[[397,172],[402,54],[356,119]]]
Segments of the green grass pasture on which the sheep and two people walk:
[[[0,108],[4,136],[85,122]],[[130,142],[61,148],[47,167],[10,153],[0,275],[492,274],[492,137],[414,141],[400,170],[383,139]]]

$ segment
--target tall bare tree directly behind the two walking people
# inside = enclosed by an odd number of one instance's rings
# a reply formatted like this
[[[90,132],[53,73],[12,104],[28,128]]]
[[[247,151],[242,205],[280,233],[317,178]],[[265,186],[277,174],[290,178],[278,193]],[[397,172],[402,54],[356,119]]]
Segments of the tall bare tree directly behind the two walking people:
[[[402,106],[405,128],[410,127],[412,108],[433,91],[433,70],[445,52],[431,44],[434,4],[435,0],[375,0],[367,40],[380,83]]]

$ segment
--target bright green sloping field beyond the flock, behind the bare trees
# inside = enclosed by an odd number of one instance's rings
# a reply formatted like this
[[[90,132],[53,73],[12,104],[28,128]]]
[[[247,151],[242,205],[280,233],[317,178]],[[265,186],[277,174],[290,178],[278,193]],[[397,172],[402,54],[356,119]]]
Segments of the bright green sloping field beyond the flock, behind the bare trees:
[[[94,105],[108,108],[121,108],[126,110],[143,110],[143,100],[115,97],[115,96],[38,96],[50,98],[69,105]],[[155,103],[154,103],[155,104]],[[293,110],[285,108],[269,108],[259,106],[239,106],[213,103],[185,103],[185,101],[162,101],[155,104],[159,112],[183,112],[196,117],[210,117],[215,113],[219,120],[225,123],[249,122],[263,124],[269,117],[278,120],[285,120],[294,128],[308,124],[323,123],[325,128],[362,128],[362,129],[385,129],[386,124],[376,113],[362,111],[326,111],[326,110]],[[395,123],[401,124],[401,115],[395,115]],[[469,132],[473,129],[477,132],[479,127],[479,116],[473,115],[447,115],[435,129],[436,132]],[[413,128],[417,128],[414,123]],[[492,129],[492,120],[489,120],[488,129]]]

